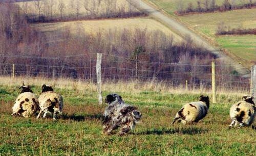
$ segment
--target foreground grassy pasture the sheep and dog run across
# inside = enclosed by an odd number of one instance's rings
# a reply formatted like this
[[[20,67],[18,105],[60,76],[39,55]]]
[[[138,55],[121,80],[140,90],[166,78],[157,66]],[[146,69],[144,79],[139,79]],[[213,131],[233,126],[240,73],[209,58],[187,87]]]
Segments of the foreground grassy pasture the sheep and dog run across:
[[[118,83],[122,85],[119,89],[104,84],[103,97],[116,90],[142,112],[136,128],[120,137],[102,135],[101,116],[106,104],[97,105],[96,87],[87,82],[25,79],[25,83],[35,84],[32,90],[37,95],[39,83],[53,84],[64,98],[63,116],[57,121],[36,120],[35,116],[12,117],[11,107],[19,94],[20,81],[1,77],[1,155],[254,155],[256,152],[255,130],[251,127],[228,130],[229,108],[241,98],[241,93],[219,94],[218,103],[210,103],[209,113],[202,121],[184,126],[170,124],[177,111],[184,103],[196,101],[200,94],[209,92],[158,91],[150,83],[138,88],[133,83]],[[124,86],[132,89],[120,89]]]

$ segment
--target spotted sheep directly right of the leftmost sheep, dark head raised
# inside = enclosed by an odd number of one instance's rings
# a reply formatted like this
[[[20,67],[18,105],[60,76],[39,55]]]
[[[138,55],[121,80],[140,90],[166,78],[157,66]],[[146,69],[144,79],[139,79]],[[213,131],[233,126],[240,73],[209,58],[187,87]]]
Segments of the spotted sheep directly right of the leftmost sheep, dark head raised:
[[[40,111],[37,115],[37,119],[42,112],[45,112],[42,116],[46,118],[47,113],[53,113],[53,119],[56,119],[56,114],[62,114],[63,98],[60,94],[53,91],[52,86],[42,85],[42,93],[38,97]]]

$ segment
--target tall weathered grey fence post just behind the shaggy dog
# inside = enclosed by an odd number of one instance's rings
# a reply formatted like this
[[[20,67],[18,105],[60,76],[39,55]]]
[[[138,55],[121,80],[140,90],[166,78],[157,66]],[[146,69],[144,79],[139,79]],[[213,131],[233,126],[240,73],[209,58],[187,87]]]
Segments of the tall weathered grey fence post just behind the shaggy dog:
[[[97,63],[96,63],[96,74],[97,74],[97,90],[98,90],[98,102],[102,105],[102,92],[101,92],[101,58],[102,54],[97,53]]]

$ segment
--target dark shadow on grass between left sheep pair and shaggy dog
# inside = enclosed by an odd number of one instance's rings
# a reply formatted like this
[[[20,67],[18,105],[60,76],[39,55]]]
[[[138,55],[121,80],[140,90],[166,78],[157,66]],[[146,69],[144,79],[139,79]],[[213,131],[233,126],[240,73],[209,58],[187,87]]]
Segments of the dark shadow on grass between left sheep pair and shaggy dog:
[[[103,118],[102,114],[86,114],[86,115],[63,114],[61,116],[61,119],[63,120],[74,120],[74,121],[84,121],[84,120],[92,120],[92,119],[101,120],[102,118]]]

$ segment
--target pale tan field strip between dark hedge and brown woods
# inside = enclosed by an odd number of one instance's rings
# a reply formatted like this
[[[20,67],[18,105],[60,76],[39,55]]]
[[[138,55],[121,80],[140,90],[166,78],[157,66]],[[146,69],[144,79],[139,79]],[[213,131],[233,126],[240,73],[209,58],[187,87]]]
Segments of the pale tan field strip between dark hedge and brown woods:
[[[124,29],[131,32],[133,32],[135,29],[147,29],[147,32],[161,31],[167,36],[172,35],[174,37],[174,41],[181,41],[180,36],[170,31],[160,22],[149,18],[53,22],[32,24],[32,26],[36,30],[44,32],[48,38],[48,41],[56,41],[62,39],[62,36],[58,34],[65,31],[69,31],[73,36],[77,36],[81,33],[93,35],[101,33],[103,37],[106,37],[105,35],[108,34],[110,31],[113,31],[113,34],[119,35],[120,33],[118,32],[121,32]]]

